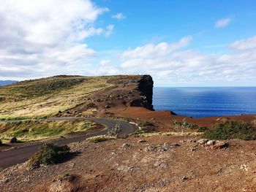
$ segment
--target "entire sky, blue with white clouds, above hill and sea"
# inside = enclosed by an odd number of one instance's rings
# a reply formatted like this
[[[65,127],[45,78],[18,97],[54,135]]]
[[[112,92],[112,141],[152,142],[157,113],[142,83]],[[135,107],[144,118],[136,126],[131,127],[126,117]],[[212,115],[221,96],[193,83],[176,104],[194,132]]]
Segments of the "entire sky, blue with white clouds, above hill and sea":
[[[256,86],[255,0],[0,0],[0,80],[151,74]]]

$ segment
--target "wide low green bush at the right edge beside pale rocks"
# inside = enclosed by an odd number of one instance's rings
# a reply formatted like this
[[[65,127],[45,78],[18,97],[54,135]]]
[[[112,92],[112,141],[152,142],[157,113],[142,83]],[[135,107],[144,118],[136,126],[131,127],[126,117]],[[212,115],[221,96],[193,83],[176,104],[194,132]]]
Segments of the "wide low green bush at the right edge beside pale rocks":
[[[206,139],[244,139],[255,140],[256,128],[242,121],[225,121],[216,123],[213,128],[204,131]]]

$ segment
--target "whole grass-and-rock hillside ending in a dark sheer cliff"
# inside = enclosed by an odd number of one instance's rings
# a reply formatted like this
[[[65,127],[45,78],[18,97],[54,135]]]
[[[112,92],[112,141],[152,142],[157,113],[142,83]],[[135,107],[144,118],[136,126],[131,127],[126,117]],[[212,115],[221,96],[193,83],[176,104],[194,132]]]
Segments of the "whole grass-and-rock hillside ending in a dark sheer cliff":
[[[150,76],[56,76],[0,88],[0,118],[108,114],[115,108],[152,107]]]

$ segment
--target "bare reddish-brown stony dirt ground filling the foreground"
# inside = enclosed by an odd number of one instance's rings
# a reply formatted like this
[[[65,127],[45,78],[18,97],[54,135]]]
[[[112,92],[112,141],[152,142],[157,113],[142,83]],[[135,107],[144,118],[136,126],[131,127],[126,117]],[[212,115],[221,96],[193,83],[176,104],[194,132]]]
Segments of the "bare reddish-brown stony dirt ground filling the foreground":
[[[256,191],[256,141],[211,150],[196,137],[129,137],[69,145],[69,161],[0,172],[0,191]]]

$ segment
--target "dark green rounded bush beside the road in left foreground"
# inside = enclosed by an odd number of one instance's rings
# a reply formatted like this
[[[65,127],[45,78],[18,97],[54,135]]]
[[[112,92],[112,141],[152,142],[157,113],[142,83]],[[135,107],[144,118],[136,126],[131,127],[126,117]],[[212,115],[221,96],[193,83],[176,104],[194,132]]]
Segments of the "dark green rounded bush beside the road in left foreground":
[[[69,154],[69,147],[67,145],[57,146],[53,144],[42,145],[40,150],[35,153],[28,162],[29,167],[35,168],[43,165],[58,164],[64,160]]]

